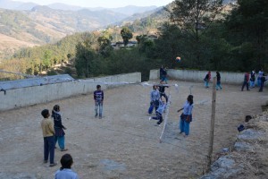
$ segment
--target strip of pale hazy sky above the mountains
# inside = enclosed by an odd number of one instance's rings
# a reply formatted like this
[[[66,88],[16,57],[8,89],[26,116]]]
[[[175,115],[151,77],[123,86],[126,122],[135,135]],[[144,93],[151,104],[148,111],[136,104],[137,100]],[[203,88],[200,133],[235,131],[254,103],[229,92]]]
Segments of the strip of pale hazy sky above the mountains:
[[[36,4],[46,5],[54,3],[78,5],[81,7],[123,7],[126,5],[137,6],[163,6],[172,3],[172,0],[14,0],[20,2],[32,2]]]

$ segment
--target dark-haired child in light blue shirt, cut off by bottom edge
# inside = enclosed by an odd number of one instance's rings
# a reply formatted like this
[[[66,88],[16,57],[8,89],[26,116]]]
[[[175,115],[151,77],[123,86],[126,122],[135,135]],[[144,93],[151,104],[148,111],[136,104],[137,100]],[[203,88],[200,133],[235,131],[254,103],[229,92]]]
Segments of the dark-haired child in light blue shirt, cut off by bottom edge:
[[[64,154],[61,158],[62,167],[56,171],[55,179],[79,179],[79,176],[71,170],[73,160],[70,154]]]

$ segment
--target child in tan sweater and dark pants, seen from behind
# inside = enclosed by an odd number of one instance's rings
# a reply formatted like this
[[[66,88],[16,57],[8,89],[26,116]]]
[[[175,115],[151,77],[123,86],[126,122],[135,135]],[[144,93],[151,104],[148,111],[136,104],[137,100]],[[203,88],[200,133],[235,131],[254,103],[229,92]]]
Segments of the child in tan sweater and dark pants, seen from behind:
[[[41,122],[43,137],[44,137],[44,163],[47,163],[48,156],[50,165],[55,166],[54,162],[54,128],[53,122],[48,117],[50,116],[48,109],[41,112],[44,119]]]

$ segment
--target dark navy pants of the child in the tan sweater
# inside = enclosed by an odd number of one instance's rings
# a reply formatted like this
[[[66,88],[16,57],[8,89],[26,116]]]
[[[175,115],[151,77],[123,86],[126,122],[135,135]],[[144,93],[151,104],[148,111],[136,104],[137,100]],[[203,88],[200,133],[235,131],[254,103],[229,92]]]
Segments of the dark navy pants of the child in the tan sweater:
[[[44,160],[48,159],[50,164],[54,164],[54,136],[44,137]]]

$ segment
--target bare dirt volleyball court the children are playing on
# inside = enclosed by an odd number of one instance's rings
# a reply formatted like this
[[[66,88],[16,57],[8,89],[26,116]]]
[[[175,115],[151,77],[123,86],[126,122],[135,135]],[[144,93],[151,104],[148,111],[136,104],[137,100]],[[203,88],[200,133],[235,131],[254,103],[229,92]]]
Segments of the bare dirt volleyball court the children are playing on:
[[[153,82],[153,81],[150,81]],[[72,169],[84,179],[197,178],[202,175],[209,144],[212,88],[203,83],[169,81],[179,85],[166,89],[172,104],[163,142],[162,126],[149,121],[147,108],[152,87],[127,85],[105,90],[104,117],[94,117],[93,94],[56,100],[46,104],[0,113],[0,178],[54,178],[60,158],[70,153]],[[193,109],[190,135],[179,132],[177,110],[183,106],[193,85],[197,104]],[[240,86],[224,85],[217,91],[214,156],[236,140],[237,126],[245,115],[262,112],[268,100],[267,89],[240,91]],[[43,164],[41,110],[59,104],[67,127],[65,146],[55,149],[57,166]]]

